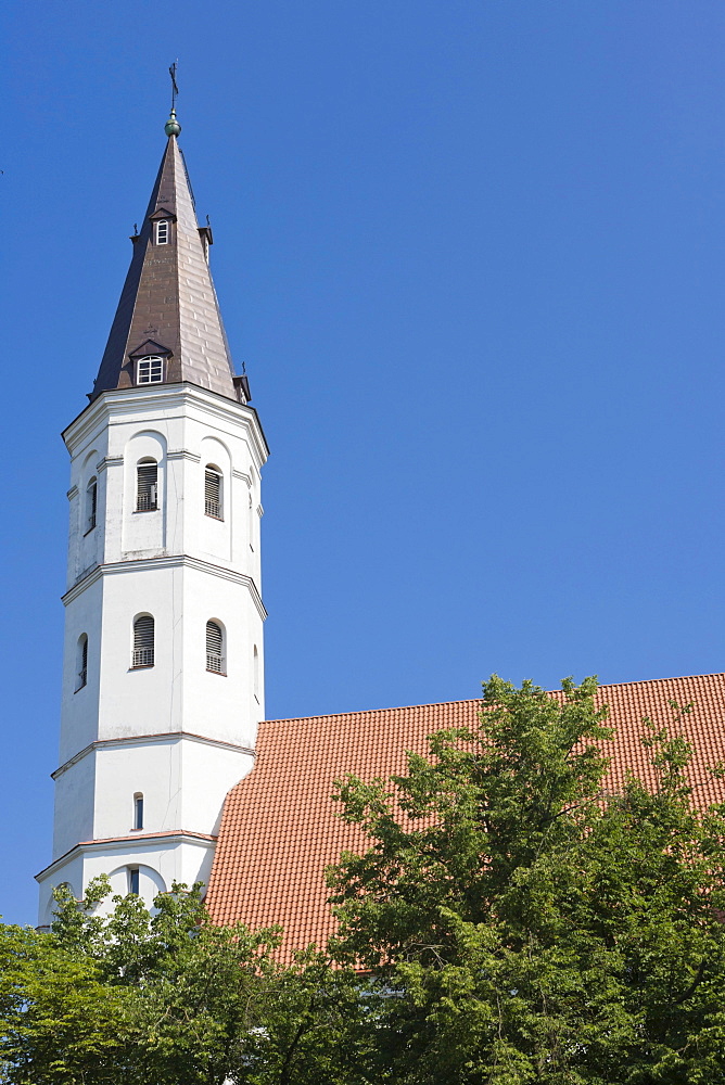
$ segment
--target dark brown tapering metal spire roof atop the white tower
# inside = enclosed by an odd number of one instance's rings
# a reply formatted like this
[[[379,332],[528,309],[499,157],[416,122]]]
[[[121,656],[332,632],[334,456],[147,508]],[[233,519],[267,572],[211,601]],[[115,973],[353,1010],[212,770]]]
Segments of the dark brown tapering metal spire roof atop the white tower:
[[[156,244],[166,219],[168,243]],[[164,382],[189,381],[237,399],[233,367],[181,151],[169,136],[90,396],[136,383],[136,361],[164,358]]]

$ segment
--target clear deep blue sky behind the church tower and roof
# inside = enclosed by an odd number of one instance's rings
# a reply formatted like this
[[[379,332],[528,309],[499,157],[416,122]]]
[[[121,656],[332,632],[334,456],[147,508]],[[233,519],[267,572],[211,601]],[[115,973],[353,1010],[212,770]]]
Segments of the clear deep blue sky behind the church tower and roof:
[[[67,457],[181,143],[264,478],[267,714],[724,668],[725,7],[7,3],[0,912],[50,857]]]

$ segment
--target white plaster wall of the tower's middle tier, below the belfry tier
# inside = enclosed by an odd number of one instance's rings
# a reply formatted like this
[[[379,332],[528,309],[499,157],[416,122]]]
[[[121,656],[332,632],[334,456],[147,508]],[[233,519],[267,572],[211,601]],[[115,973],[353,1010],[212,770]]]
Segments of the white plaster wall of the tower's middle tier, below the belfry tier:
[[[154,618],[154,666],[131,666],[133,621]],[[220,622],[226,675],[206,671],[206,623]],[[99,623],[100,621],[100,628]],[[88,686],[73,692],[77,642],[89,637]],[[96,738],[188,730],[253,745],[264,718],[253,655],[263,618],[251,582],[170,559],[112,566],[68,603],[61,763]]]

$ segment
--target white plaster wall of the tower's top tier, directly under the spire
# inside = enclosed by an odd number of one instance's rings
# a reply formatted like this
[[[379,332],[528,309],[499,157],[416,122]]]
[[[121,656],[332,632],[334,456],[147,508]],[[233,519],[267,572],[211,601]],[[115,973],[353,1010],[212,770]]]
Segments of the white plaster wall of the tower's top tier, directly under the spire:
[[[251,494],[258,520],[259,471],[266,449],[250,408],[185,384],[117,390],[88,407],[64,436],[72,455],[72,490],[77,488],[77,498],[72,498],[77,512],[72,525],[69,584],[87,567],[77,538],[81,497],[89,474],[100,472],[100,481],[101,475],[106,477],[99,497],[105,497],[106,502],[105,518],[93,540],[99,560],[120,561],[160,549],[200,557],[214,553],[254,576],[258,586],[258,544],[250,537],[257,527],[250,527],[247,509]],[[141,451],[144,444],[148,448]],[[161,515],[133,512],[136,463],[131,460],[143,455],[160,462],[165,498]],[[224,468],[226,526],[221,528],[209,526],[209,518],[203,514],[207,462]]]

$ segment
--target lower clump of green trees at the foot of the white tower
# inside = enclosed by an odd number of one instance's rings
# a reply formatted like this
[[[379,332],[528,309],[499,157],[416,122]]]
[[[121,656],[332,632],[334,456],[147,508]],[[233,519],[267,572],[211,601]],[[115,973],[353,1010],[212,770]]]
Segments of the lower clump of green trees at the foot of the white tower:
[[[154,909],[56,893],[51,932],[0,926],[0,1068],[9,1085],[355,1085],[366,1064],[351,970],[283,968],[279,932],[215,927],[175,885]],[[344,1043],[343,1043],[344,1037]]]

